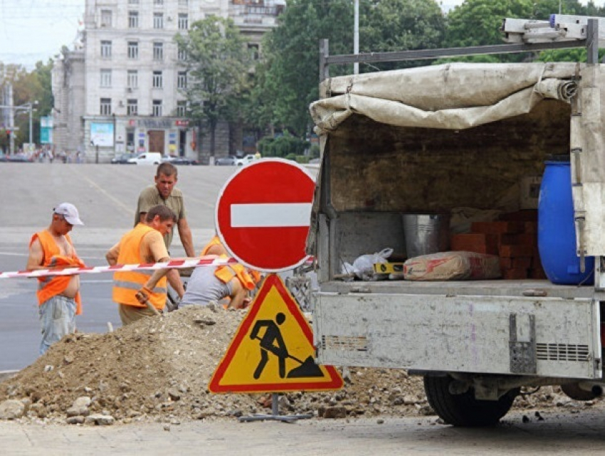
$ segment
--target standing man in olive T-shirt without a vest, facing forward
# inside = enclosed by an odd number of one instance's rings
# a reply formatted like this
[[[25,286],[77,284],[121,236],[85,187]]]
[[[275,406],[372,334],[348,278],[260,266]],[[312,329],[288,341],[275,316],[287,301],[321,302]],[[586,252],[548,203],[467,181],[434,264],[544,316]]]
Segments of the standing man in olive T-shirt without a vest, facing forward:
[[[155,184],[148,186],[139,195],[137,203],[137,211],[135,212],[135,226],[145,219],[145,214],[149,208],[157,204],[163,204],[172,209],[176,218],[177,228],[179,229],[179,238],[185,250],[185,255],[194,257],[194,243],[191,236],[191,229],[187,223],[185,203],[183,193],[175,188],[177,185],[178,175],[177,167],[170,163],[162,163],[157,166],[156,175],[154,177]],[[172,230],[164,235],[164,243],[167,250],[172,244]]]

